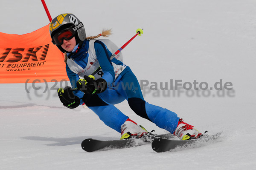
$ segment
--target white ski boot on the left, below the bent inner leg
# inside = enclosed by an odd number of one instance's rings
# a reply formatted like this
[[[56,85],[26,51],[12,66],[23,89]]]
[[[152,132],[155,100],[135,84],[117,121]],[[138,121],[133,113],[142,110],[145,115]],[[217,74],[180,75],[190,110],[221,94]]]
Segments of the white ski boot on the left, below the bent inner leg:
[[[145,130],[144,127],[141,125],[138,126],[137,123],[132,121],[130,118],[128,118],[124,124],[121,126],[121,138],[122,139],[128,139],[132,137],[142,137],[143,135],[147,134],[148,131]]]

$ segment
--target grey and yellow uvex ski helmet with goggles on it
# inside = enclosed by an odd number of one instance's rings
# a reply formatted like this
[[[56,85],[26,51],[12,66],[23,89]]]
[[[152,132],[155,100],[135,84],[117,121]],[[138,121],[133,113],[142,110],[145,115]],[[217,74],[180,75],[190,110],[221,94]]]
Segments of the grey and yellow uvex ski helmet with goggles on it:
[[[86,34],[84,25],[74,14],[60,14],[53,18],[49,24],[49,32],[52,38],[52,43],[54,43],[61,52],[67,52],[62,47],[63,39],[70,40],[76,37],[76,45],[83,43]],[[66,32],[66,34],[62,34]]]

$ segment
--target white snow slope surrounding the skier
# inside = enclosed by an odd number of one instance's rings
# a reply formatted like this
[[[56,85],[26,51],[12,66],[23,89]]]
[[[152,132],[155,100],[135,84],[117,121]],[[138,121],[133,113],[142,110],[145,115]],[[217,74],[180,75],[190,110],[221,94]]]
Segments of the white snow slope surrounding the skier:
[[[1,84],[0,169],[198,169],[245,170],[256,166],[256,1],[255,0],[45,0],[52,18],[73,13],[88,36],[112,28],[110,39],[122,46],[144,29],[124,50],[125,63],[138,80],[156,82],[158,90],[143,89],[145,100],[178,114],[209,134],[223,130],[220,142],[168,153],[150,144],[86,153],[85,138],[119,139],[82,106],[64,108],[55,90],[44,83]],[[1,0],[1,32],[26,34],[49,23],[40,1]],[[233,90],[173,91],[165,96],[160,82],[231,82]],[[58,86],[60,86],[58,84]],[[194,93],[194,95],[192,95]],[[166,130],[140,118],[127,102],[116,105],[131,119],[157,134]]]

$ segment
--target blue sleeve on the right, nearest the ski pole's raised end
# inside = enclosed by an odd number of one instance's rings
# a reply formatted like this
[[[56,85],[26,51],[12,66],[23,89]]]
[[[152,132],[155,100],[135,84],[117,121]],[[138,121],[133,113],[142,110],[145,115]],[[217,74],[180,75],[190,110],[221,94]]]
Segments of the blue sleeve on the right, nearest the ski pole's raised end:
[[[102,78],[105,79],[105,81],[107,81],[109,85],[115,80],[115,72],[110,60],[112,53],[108,50],[105,44],[99,40],[95,41],[94,49],[97,59],[99,61],[99,65],[101,66],[104,73]]]

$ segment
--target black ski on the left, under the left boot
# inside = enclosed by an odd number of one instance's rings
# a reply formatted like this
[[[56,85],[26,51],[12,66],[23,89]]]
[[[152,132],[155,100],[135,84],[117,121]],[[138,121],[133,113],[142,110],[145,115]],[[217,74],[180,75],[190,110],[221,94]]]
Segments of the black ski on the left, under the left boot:
[[[81,147],[87,152],[94,152],[96,150],[111,150],[111,149],[122,149],[128,147],[136,147],[144,144],[151,143],[155,138],[174,138],[175,135],[171,133],[166,133],[162,135],[151,134],[145,135],[141,138],[130,138],[123,140],[109,140],[102,141],[93,138],[88,138],[82,141]]]

